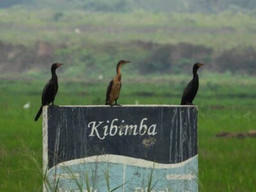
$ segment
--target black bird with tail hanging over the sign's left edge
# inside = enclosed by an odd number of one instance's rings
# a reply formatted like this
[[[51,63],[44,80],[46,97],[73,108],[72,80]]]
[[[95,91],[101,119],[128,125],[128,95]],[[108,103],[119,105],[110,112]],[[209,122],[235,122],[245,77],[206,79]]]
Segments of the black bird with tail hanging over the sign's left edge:
[[[44,90],[42,92],[42,106],[39,109],[38,113],[36,114],[35,121],[38,120],[40,117],[43,106],[49,105],[52,103],[52,106],[54,106],[54,98],[58,92],[58,77],[56,75],[56,68],[63,65],[62,63],[53,63],[51,67],[52,72],[52,78],[45,84]]]

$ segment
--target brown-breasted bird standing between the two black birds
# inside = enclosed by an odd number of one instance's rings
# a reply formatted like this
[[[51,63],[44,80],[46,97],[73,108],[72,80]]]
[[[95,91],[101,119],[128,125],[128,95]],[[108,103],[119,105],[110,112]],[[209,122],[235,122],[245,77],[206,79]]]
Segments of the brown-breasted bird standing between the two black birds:
[[[113,106],[113,102],[115,101],[114,105],[115,106],[120,106],[120,104],[117,104],[116,101],[118,100],[120,90],[121,90],[121,86],[122,86],[121,68],[126,63],[131,63],[131,61],[121,60],[116,65],[116,76],[108,84],[107,94],[106,94],[106,105]]]

